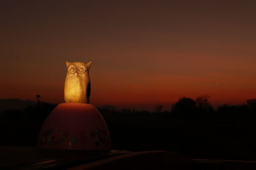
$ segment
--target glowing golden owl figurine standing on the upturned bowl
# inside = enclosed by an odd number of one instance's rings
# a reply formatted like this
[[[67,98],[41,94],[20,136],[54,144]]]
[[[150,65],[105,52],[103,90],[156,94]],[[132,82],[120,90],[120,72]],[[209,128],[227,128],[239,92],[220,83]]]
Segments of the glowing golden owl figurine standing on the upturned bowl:
[[[67,76],[64,87],[65,103],[90,103],[91,82],[90,62],[68,62]]]

